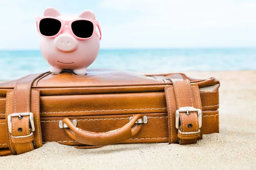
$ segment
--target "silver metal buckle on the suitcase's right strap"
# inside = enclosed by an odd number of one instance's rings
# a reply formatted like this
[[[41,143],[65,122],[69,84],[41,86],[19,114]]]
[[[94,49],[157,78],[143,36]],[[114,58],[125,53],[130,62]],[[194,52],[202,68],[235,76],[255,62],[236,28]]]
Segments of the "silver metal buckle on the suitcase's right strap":
[[[176,128],[179,128],[179,121],[180,121],[180,112],[197,112],[198,113],[198,122],[199,122],[199,128],[202,127],[202,111],[201,109],[196,109],[193,107],[181,107],[179,110],[176,111]]]

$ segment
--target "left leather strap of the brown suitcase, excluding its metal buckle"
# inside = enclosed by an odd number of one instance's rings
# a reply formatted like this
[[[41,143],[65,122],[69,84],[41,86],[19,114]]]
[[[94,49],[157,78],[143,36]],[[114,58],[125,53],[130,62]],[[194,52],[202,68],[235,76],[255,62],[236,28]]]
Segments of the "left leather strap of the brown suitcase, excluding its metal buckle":
[[[48,72],[47,72],[48,73]],[[46,73],[44,73],[46,74]],[[31,91],[32,83],[44,74],[31,74],[17,80],[14,90],[9,91],[6,95],[6,123],[8,116],[12,113],[29,113],[34,112],[35,131],[30,128],[29,115],[12,116],[11,132],[7,135],[8,145],[12,154],[26,153],[42,146],[41,128],[39,117],[39,91]],[[32,107],[31,107],[32,105]],[[7,126],[8,128],[8,126]],[[8,130],[9,131],[9,130]],[[35,142],[34,140],[37,139]]]

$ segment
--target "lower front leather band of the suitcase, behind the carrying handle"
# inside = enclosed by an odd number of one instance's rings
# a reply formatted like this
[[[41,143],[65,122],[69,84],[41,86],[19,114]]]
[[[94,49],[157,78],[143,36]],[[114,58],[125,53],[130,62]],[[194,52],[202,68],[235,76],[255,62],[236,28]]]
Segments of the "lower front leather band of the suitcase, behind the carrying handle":
[[[142,114],[148,116],[148,123],[144,124],[140,132],[121,143],[154,143],[169,141],[169,125],[167,113]],[[69,116],[68,118],[78,120],[78,127],[92,132],[107,132],[122,127],[128,123],[132,115],[106,115],[106,116]],[[202,133],[218,133],[218,111],[203,111]],[[41,129],[43,143],[58,142],[67,145],[83,145],[71,139],[64,129],[58,127],[58,122],[63,120],[61,117],[41,118]],[[6,134],[6,124],[0,124],[0,133]],[[50,135],[49,135],[50,134]],[[8,148],[6,137],[0,137],[0,148]]]

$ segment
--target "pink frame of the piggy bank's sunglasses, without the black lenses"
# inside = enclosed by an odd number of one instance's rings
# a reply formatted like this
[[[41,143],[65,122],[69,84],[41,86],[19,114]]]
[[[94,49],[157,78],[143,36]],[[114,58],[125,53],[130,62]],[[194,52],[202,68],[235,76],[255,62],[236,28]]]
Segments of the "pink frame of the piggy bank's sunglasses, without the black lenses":
[[[43,34],[41,34],[40,32],[40,28],[39,28],[39,25],[40,25],[40,22],[42,19],[45,19],[45,18],[52,18],[52,19],[55,19],[55,20],[58,20],[61,22],[61,28],[60,30],[58,31],[57,34],[53,35],[53,36],[45,36]],[[73,33],[73,30],[72,30],[72,27],[71,27],[71,24],[74,22],[74,21],[78,21],[78,20],[86,20],[86,21],[90,21],[91,23],[93,23],[93,34],[88,37],[88,38],[81,38],[81,37],[77,37],[74,33]],[[100,25],[99,25],[99,22],[97,20],[91,20],[91,19],[84,19],[84,18],[78,18],[78,19],[75,19],[75,20],[61,20],[57,17],[36,17],[36,25],[37,25],[37,30],[38,30],[38,33],[43,36],[43,37],[46,37],[46,38],[54,38],[54,37],[57,37],[58,35],[61,34],[61,32],[63,31],[64,29],[64,26],[67,25],[68,26],[68,29],[70,31],[70,34],[72,34],[73,37],[79,39],[79,40],[88,40],[90,38],[93,37],[93,35],[95,34],[96,32],[96,26],[98,26],[99,28],[99,40],[101,40],[101,37],[102,37],[102,34],[101,34],[101,28],[100,28]],[[96,33],[97,34],[97,33]]]

